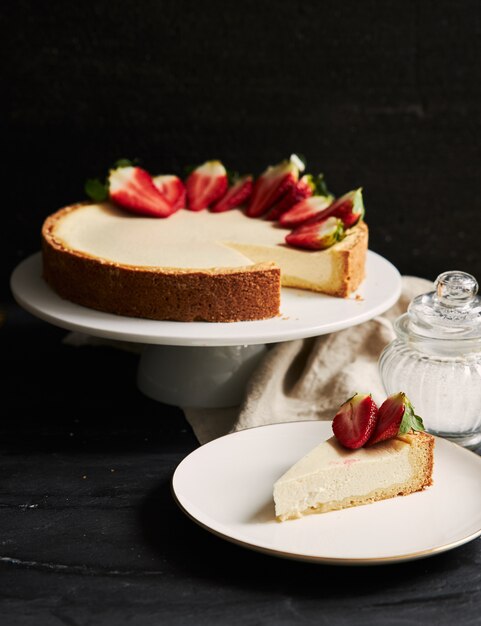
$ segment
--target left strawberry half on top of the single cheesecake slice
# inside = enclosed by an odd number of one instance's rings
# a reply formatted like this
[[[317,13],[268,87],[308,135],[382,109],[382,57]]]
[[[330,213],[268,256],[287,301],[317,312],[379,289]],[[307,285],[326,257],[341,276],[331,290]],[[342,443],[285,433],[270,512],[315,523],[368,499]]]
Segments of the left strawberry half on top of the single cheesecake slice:
[[[361,448],[371,436],[378,408],[370,394],[356,393],[346,400],[332,421],[336,439],[345,448]]]

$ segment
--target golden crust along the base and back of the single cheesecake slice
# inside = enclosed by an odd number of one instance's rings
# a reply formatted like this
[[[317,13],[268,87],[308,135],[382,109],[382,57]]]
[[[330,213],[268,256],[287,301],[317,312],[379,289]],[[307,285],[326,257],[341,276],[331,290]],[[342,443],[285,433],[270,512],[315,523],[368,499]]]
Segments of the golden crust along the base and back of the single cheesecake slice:
[[[323,443],[325,445],[329,445],[329,442],[331,442],[333,439],[334,438],[331,438],[330,440],[327,440]],[[278,481],[276,481],[274,485],[274,502],[276,505],[277,520],[283,522],[286,520],[298,519],[312,513],[327,513],[329,511],[338,511],[345,508],[372,504],[373,502],[416,493],[418,491],[424,490],[426,487],[431,486],[433,484],[432,475],[434,466],[434,437],[426,432],[411,431],[403,435],[398,435],[392,440],[381,442],[381,444],[375,444],[375,446],[373,446],[372,448],[363,448],[363,450],[367,450],[369,454],[369,450],[375,451],[376,446],[379,445],[382,445],[385,449],[388,449],[390,442],[391,446],[393,447],[393,454],[396,453],[396,446],[399,446],[399,443],[408,444],[408,460],[412,468],[412,473],[409,478],[402,482],[393,483],[389,486],[378,486],[377,488],[371,489],[366,494],[355,494],[340,499],[331,499],[325,502],[317,502],[313,506],[309,506],[304,509],[299,509],[298,507],[292,506],[290,510],[285,510],[282,513],[278,514],[278,504],[276,502],[276,485],[281,483],[287,472],[291,472],[291,470],[296,465],[298,465],[300,461],[302,461],[309,454],[311,454],[315,450],[314,449],[307,453],[307,455],[302,457],[302,459],[294,464],[285,474],[283,474],[283,476],[278,479]],[[350,458],[352,461],[356,458],[356,453],[357,450],[347,451],[347,454],[349,455],[348,458]]]

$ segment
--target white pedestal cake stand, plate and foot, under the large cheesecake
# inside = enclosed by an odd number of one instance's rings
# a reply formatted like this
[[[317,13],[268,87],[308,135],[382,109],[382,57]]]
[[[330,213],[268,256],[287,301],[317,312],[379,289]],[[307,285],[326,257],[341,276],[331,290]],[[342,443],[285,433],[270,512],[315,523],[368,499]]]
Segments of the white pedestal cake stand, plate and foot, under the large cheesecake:
[[[56,326],[142,344],[137,385],[149,397],[212,408],[239,404],[270,344],[361,324],[397,301],[401,276],[389,261],[369,251],[366,276],[350,298],[283,289],[279,317],[216,324],[121,317],[63,300],[42,279],[40,253],[16,267],[11,288],[20,306]]]

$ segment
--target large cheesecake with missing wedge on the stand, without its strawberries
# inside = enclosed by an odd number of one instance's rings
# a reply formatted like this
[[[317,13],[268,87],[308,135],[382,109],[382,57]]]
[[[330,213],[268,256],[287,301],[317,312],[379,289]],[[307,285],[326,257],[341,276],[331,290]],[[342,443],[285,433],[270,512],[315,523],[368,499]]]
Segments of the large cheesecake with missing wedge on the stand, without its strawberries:
[[[280,289],[346,297],[365,275],[364,222],[325,250],[285,243],[289,231],[240,209],[180,209],[166,219],[81,203],[42,228],[43,276],[63,298],[156,320],[235,322],[279,314]]]

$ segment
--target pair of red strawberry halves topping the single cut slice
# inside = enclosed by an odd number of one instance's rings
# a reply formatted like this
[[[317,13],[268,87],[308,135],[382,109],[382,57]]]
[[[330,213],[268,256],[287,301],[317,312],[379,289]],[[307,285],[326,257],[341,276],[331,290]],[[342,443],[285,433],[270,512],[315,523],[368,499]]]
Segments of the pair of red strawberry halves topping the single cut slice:
[[[370,394],[356,393],[339,408],[332,430],[341,445],[355,450],[410,430],[423,431],[424,425],[402,391],[390,395],[379,408]]]

